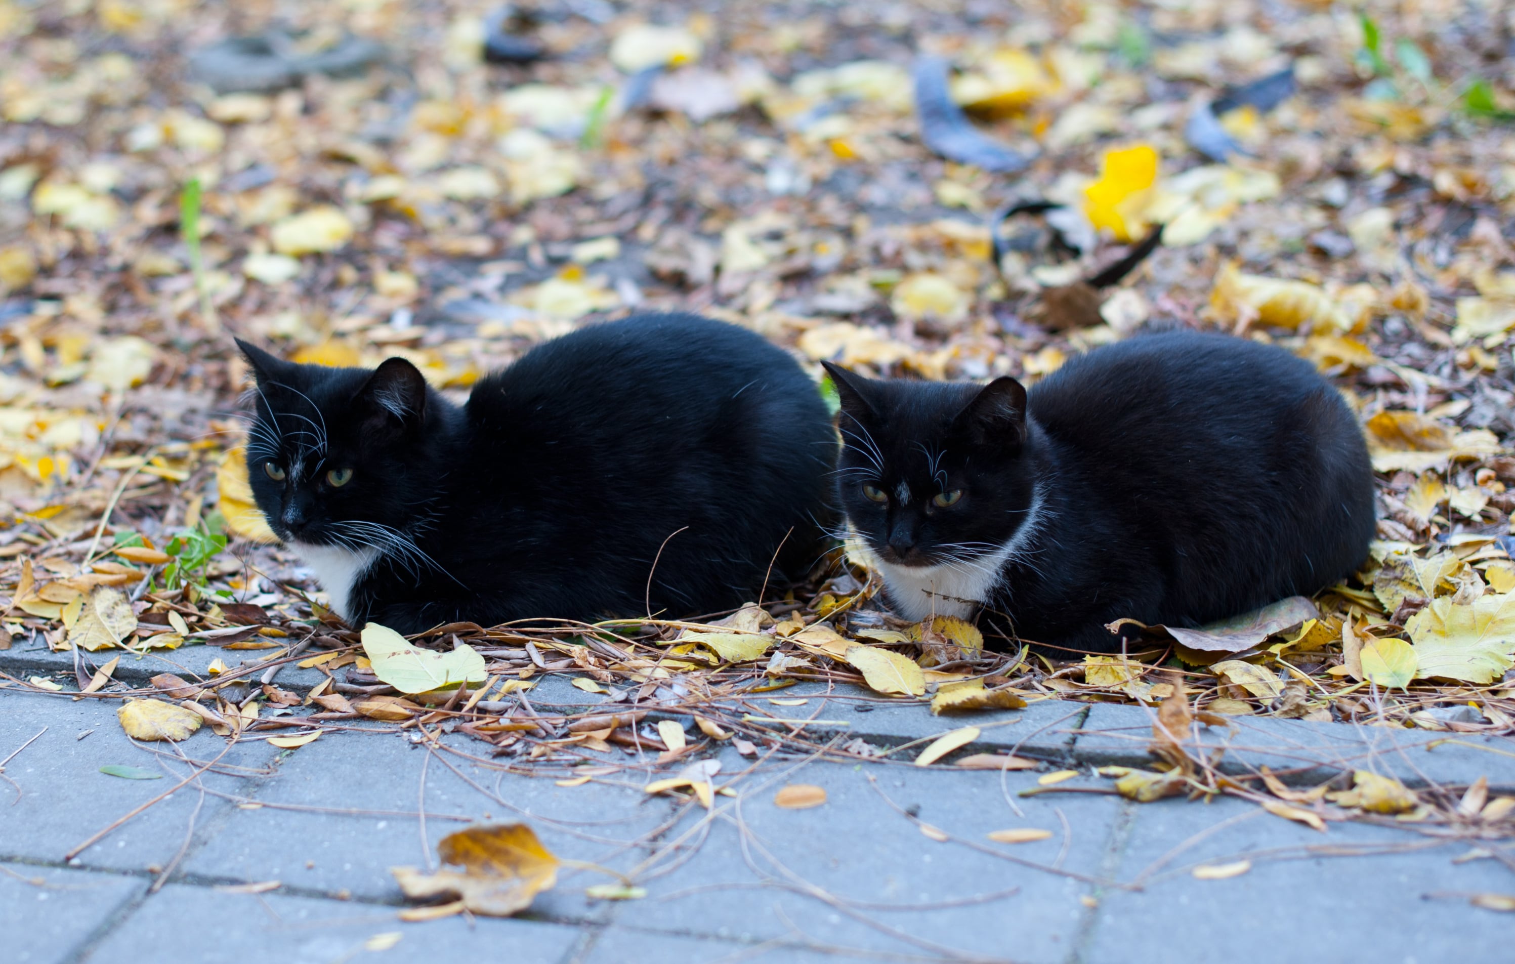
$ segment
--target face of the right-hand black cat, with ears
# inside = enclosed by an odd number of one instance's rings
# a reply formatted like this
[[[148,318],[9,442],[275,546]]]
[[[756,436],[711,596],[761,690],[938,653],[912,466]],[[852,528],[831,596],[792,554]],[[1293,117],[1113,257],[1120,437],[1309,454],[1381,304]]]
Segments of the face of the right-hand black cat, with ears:
[[[1033,496],[1020,382],[980,388],[826,370],[842,408],[841,505],[885,564],[950,567],[1015,537]]]

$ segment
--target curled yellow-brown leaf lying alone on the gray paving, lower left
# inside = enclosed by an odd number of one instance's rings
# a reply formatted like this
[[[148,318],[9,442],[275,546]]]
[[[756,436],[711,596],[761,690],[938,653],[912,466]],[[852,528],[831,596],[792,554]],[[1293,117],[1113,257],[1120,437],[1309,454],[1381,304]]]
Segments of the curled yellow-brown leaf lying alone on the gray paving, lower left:
[[[406,897],[456,896],[474,914],[509,917],[558,882],[558,858],[524,823],[483,825],[448,834],[436,846],[436,855],[462,872],[391,867]]]

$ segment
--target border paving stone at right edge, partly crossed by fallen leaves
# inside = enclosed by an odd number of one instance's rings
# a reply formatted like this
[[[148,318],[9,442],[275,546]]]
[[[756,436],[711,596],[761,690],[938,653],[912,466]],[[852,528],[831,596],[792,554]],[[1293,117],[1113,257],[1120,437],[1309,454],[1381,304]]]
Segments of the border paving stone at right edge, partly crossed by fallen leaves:
[[[1091,765],[1151,762],[1147,743],[1154,715],[1142,706],[1095,703],[1073,746]],[[1320,784],[1351,770],[1397,776],[1412,787],[1462,787],[1488,776],[1495,790],[1515,790],[1515,740],[1444,734],[1397,726],[1312,723],[1280,717],[1229,717],[1233,726],[1200,728],[1204,752],[1224,749],[1220,768],[1256,773],[1267,765],[1285,781]]]

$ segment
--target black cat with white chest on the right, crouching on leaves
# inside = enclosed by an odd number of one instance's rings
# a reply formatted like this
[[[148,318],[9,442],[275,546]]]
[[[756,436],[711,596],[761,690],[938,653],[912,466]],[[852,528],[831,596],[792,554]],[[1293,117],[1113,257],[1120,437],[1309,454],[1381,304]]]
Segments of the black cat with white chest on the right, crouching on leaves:
[[[1110,652],[1104,623],[1198,626],[1351,573],[1374,532],[1351,411],[1282,349],[1147,335],[1015,379],[842,400],[841,505],[912,618]]]

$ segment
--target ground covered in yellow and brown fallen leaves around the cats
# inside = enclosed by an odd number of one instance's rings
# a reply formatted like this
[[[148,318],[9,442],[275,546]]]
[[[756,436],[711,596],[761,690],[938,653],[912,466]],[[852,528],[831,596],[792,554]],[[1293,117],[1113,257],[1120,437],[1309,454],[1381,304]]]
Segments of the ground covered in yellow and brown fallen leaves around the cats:
[[[717,743],[901,756],[774,725],[754,699],[797,681],[923,712],[1127,702],[1153,711],[1154,764],[1106,776],[1136,800],[1515,831],[1515,800],[1483,784],[1362,770],[1297,788],[1224,776],[1197,741],[1239,715],[1515,729],[1515,92],[1495,8],[485,14],[301,5],[279,21],[282,79],[259,80],[194,55],[276,29],[261,6],[0,0],[0,647],[76,655],[67,678],[5,685],[127,700],[139,740],[462,732],[514,772],[571,787],[632,770],[706,809],[735,793]],[[856,547],[735,614],[361,640],[261,543],[230,332],[317,364],[403,355],[464,393],[545,338],[665,308],[753,327],[817,374],[833,359],[1035,382],[1174,324],[1271,341],[1359,412],[1380,538],[1314,600],[1060,658],[894,620]],[[123,649],[183,646],[226,658],[150,690],[112,679]],[[289,662],[326,679],[280,690],[270,670]],[[604,705],[538,712],[548,674]],[[1032,765],[942,762],[976,729],[915,762]],[[1065,791],[1059,776],[1038,791]]]

